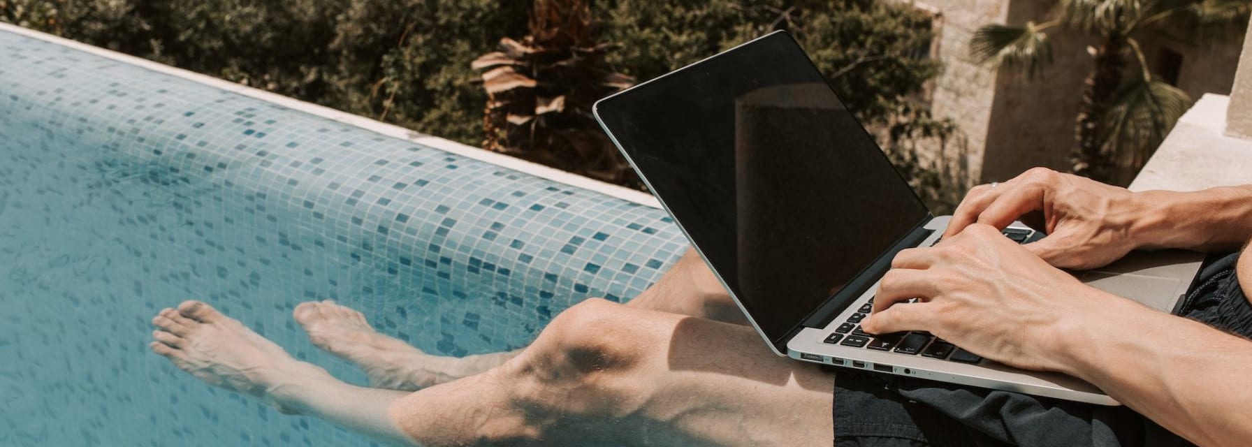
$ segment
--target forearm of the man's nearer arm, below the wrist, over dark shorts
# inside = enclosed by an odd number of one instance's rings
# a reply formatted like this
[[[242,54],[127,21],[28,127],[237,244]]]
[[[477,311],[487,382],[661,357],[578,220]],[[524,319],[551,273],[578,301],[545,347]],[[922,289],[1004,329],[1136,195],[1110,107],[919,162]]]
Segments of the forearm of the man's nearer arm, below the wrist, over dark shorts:
[[[1202,446],[1252,439],[1252,342],[1104,295],[1065,337],[1067,373]]]

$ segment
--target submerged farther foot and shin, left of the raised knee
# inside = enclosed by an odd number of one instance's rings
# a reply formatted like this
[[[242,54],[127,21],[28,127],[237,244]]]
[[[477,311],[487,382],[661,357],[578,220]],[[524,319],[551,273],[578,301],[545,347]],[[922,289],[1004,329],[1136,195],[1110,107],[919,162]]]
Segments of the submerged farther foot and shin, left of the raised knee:
[[[361,312],[329,299],[300,303],[294,317],[314,346],[357,364],[377,388],[421,389],[483,372],[516,356],[431,356],[376,332]]]

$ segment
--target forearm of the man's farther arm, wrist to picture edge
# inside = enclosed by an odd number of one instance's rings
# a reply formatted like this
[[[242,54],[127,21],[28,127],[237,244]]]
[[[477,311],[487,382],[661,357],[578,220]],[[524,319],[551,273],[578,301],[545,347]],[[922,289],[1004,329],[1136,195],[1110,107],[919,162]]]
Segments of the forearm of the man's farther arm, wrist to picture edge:
[[[1139,248],[1234,250],[1252,238],[1252,185],[1137,193]]]

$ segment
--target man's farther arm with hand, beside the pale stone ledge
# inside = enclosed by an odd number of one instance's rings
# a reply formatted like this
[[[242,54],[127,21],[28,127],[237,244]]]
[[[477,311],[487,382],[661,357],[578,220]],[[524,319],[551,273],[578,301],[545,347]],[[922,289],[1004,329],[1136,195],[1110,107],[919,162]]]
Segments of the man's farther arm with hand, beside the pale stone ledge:
[[[1017,219],[1048,233],[1027,249],[1064,268],[1101,267],[1132,249],[1238,249],[1252,238],[1252,187],[1132,193],[1035,168],[970,189],[944,237],[974,223],[1003,229]]]

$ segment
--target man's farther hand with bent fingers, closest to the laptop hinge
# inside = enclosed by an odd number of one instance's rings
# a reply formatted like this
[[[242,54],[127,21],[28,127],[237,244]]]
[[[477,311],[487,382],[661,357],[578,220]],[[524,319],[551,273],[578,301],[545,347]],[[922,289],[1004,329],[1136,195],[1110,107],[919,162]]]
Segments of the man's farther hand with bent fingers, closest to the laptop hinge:
[[[1143,222],[1146,208],[1124,188],[1034,168],[994,188],[970,189],[944,238],[973,223],[1003,229],[1022,218],[1048,233],[1027,249],[1055,267],[1089,269],[1141,247],[1136,225]]]

